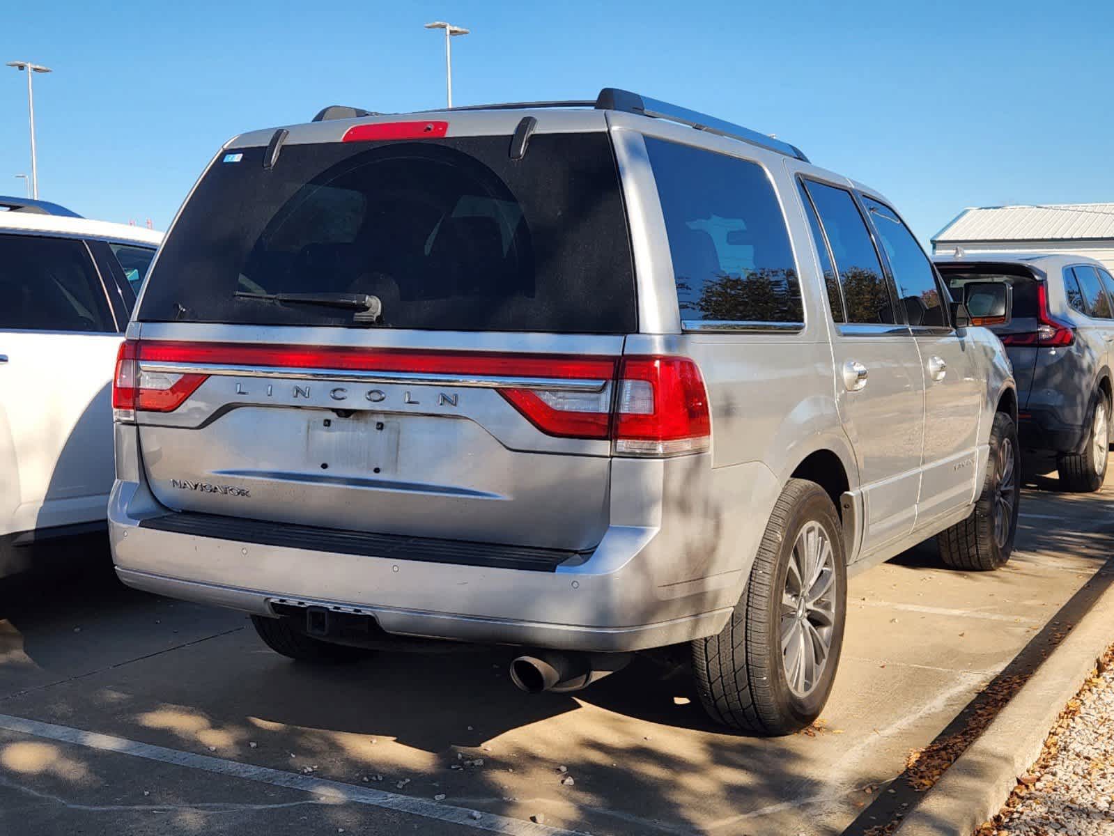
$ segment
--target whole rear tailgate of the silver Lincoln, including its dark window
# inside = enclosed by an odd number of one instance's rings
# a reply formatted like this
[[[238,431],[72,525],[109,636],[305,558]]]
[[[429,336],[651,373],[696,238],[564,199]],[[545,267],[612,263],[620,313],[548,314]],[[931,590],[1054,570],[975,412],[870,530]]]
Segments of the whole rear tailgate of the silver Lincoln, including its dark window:
[[[268,166],[263,147],[228,148],[129,343],[157,498],[340,532],[598,543],[636,330],[603,127],[538,133],[521,159],[509,135],[451,132],[287,142]],[[380,301],[379,321],[353,295]]]

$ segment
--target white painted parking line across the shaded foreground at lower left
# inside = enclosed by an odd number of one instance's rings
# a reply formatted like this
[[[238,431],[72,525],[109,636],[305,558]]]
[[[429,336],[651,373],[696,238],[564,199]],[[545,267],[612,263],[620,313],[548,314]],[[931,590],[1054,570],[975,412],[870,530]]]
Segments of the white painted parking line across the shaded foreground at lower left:
[[[342,781],[312,778],[307,775],[285,772],[281,769],[271,769],[252,764],[241,764],[240,761],[214,758],[208,755],[195,755],[194,752],[168,749],[164,746],[153,746],[152,743],[140,743],[137,740],[127,740],[126,738],[113,737],[111,735],[98,735],[92,731],[72,729],[68,726],[57,726],[39,720],[27,720],[22,717],[0,715],[0,729],[22,735],[33,735],[35,737],[57,740],[62,743],[84,746],[89,749],[99,749],[100,751],[130,755],[134,758],[156,760],[162,764],[170,764],[187,769],[226,775],[229,778],[258,781],[260,784],[270,784],[274,787],[286,787],[287,789],[310,793],[326,804],[364,804],[371,807],[397,810],[398,813],[408,813],[412,816],[448,822],[461,827],[471,827],[476,830],[507,834],[507,836],[576,836],[574,830],[564,830],[559,827],[549,827],[548,825],[537,825],[532,822],[497,816],[492,813],[453,807],[452,805],[439,804],[424,798],[413,798],[394,793],[384,793],[379,789],[355,787]],[[480,817],[473,818],[476,815]]]

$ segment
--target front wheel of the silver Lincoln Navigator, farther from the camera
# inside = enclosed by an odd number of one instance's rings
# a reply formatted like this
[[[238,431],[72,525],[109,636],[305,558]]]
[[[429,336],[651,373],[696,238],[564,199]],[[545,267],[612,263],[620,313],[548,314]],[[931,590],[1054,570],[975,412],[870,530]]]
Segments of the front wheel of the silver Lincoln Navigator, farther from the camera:
[[[961,523],[936,535],[940,560],[946,566],[989,572],[1009,560],[1017,536],[1020,472],[1017,427],[1008,415],[996,412],[990,425],[990,460],[975,509]]]

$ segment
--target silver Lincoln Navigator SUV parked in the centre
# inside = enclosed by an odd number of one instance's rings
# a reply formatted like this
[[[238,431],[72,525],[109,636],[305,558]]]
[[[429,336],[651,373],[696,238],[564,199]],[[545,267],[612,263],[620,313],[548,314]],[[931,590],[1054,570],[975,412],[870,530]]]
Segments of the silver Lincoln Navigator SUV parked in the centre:
[[[526,691],[688,645],[788,733],[849,574],[1009,557],[1010,297],[964,293],[878,192],[623,90],[243,134],[120,350],[117,571],[294,659],[517,645]]]

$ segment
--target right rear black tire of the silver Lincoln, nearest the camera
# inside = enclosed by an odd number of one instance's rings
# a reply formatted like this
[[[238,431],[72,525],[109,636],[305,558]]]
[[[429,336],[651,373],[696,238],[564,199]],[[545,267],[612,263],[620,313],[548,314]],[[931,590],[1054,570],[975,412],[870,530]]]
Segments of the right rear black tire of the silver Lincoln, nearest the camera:
[[[831,548],[830,589],[818,595],[818,602],[831,606],[830,625],[817,628],[812,624],[815,611],[805,607],[802,620],[802,604],[789,594],[790,563],[795,557],[798,536],[808,528],[823,531]],[[827,560],[827,558],[825,558]],[[797,573],[800,577],[800,573]],[[818,575],[818,579],[820,575]],[[820,580],[812,590],[820,589]],[[805,587],[800,584],[799,587]],[[842,526],[831,498],[813,482],[790,479],[781,497],[774,505],[766,525],[759,553],[751,568],[746,589],[731,620],[719,633],[693,642],[693,671],[696,690],[704,710],[724,726],[741,731],[763,736],[791,735],[805,728],[820,716],[828,694],[831,692],[839,667],[840,649],[843,643],[843,623],[847,616],[847,570],[844,566]],[[808,630],[808,621],[813,632]],[[794,639],[790,639],[788,650],[782,650],[782,638],[789,631],[801,635],[797,647],[800,653],[809,651],[815,660],[815,650],[822,641],[821,629],[828,636],[828,654],[813,675],[807,690],[794,690],[790,686],[792,667],[790,652]],[[800,632],[794,632],[800,631]],[[808,644],[805,644],[808,643]],[[794,658],[804,659],[803,655]],[[803,673],[803,668],[801,669]]]

